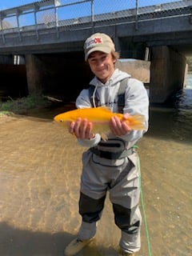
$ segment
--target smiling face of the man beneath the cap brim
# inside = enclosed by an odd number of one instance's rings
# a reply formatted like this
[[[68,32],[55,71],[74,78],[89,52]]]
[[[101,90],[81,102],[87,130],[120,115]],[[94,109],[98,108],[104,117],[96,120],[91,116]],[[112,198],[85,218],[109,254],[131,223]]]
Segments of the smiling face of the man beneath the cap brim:
[[[94,51],[88,58],[91,71],[102,83],[106,83],[114,73],[114,58],[112,54]]]

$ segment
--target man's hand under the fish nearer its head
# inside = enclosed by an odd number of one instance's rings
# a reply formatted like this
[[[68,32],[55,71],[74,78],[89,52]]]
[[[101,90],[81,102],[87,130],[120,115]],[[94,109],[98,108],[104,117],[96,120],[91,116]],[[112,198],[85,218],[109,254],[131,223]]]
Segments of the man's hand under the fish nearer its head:
[[[69,132],[74,134],[77,138],[91,139],[94,138],[92,132],[93,123],[88,122],[87,119],[78,118],[75,122],[70,122]]]

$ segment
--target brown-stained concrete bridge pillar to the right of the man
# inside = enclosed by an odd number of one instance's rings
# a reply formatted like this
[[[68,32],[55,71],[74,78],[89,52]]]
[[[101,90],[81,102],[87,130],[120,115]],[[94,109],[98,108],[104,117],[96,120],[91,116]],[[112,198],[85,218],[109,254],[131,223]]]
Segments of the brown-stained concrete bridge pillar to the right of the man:
[[[184,86],[186,57],[167,46],[151,47],[150,102],[163,103]]]

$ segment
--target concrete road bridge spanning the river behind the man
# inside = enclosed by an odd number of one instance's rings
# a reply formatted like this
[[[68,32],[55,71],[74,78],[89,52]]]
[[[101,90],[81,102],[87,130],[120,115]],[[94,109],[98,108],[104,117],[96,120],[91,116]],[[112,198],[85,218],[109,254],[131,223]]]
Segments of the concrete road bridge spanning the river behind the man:
[[[150,61],[150,102],[165,102],[182,88],[186,56],[192,53],[192,0],[141,7],[136,1],[134,8],[104,14],[94,14],[97,1],[74,2],[72,6],[78,8],[85,2],[90,3],[90,15],[62,20],[58,20],[59,8],[71,3],[44,0],[0,11],[1,66],[13,63],[13,56],[19,55],[26,66],[29,93],[54,89],[66,94],[67,86],[75,96],[91,77],[83,43],[99,31],[114,39],[121,58]],[[47,10],[53,11],[54,18],[38,22],[38,12]],[[19,17],[26,14],[34,14],[34,24],[21,26]],[[17,26],[3,27],[3,21],[12,16]],[[66,80],[73,86],[66,85]]]

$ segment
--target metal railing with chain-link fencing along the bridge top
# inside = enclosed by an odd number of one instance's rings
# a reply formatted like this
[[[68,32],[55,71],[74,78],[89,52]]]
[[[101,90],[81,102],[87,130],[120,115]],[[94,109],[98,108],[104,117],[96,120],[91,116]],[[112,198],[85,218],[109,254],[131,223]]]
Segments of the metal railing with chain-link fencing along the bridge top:
[[[137,29],[140,20],[191,13],[192,0],[42,0],[0,10],[0,32],[6,43],[8,34],[22,38],[23,32],[34,30],[38,38],[42,29],[78,30],[117,22],[135,22]]]

